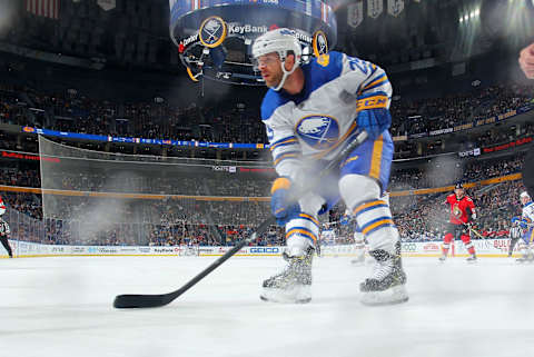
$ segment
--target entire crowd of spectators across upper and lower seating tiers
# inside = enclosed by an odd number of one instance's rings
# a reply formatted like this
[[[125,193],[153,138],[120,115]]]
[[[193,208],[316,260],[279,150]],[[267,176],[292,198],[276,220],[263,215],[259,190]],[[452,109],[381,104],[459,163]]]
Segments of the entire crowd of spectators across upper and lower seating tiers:
[[[515,110],[532,103],[532,88],[520,86],[474,89],[445,98],[417,101],[397,100],[392,105],[392,133],[411,136],[452,128]],[[34,126],[59,131],[219,142],[265,142],[265,129],[258,113],[244,105],[200,107],[191,103],[175,108],[166,100],[151,102],[115,102],[95,100],[68,89],[46,93],[31,88],[0,85],[0,122]],[[534,135],[534,126],[521,130],[487,130],[476,136],[466,149]],[[439,141],[396,145],[396,152],[415,157],[443,152]],[[2,140],[1,148],[19,149],[19,142]],[[418,168],[395,169],[389,189],[418,189],[449,186],[457,181],[479,181],[517,172],[524,153],[500,160],[432,160]],[[206,168],[207,169],[207,168]],[[209,170],[209,169],[207,169]],[[117,170],[118,171],[118,170]],[[53,188],[72,191],[136,192],[181,195],[166,199],[151,197],[125,200],[113,195],[56,196],[32,192],[2,192],[9,207],[13,234],[32,241],[88,245],[233,245],[250,235],[269,214],[268,190],[273,172],[265,177],[246,177],[217,172],[192,175],[182,171],[161,175],[111,173],[62,169],[49,170],[42,178],[36,167],[17,165],[0,168],[0,185]],[[201,177],[201,180],[199,179]],[[42,184],[42,185],[41,185]],[[510,217],[518,211],[518,181],[476,187],[468,191],[481,207],[478,229],[488,237],[503,236]],[[196,196],[196,197],[189,197]],[[205,198],[198,198],[205,196]],[[226,197],[226,198],[221,198]],[[230,198],[228,198],[230,197]],[[231,199],[231,197],[236,197]],[[392,198],[392,207],[403,240],[441,239],[447,209],[445,194]],[[338,242],[350,242],[352,235],[338,225],[342,208],[334,210],[324,224],[333,229]],[[98,229],[95,229],[98,227]],[[259,245],[284,244],[284,232],[271,227]]]

